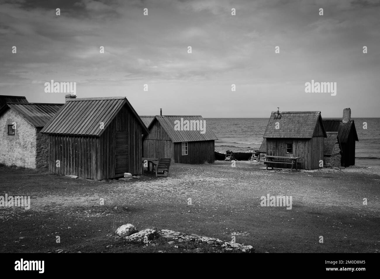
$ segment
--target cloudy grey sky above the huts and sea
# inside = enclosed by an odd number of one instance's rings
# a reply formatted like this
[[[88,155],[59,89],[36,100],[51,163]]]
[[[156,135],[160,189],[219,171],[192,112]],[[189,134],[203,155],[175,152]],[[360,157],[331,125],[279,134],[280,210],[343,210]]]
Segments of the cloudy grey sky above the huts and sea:
[[[380,117],[379,15],[378,0],[2,0],[0,95],[62,103],[44,92],[54,80],[140,115]],[[305,93],[312,79],[336,96]]]

